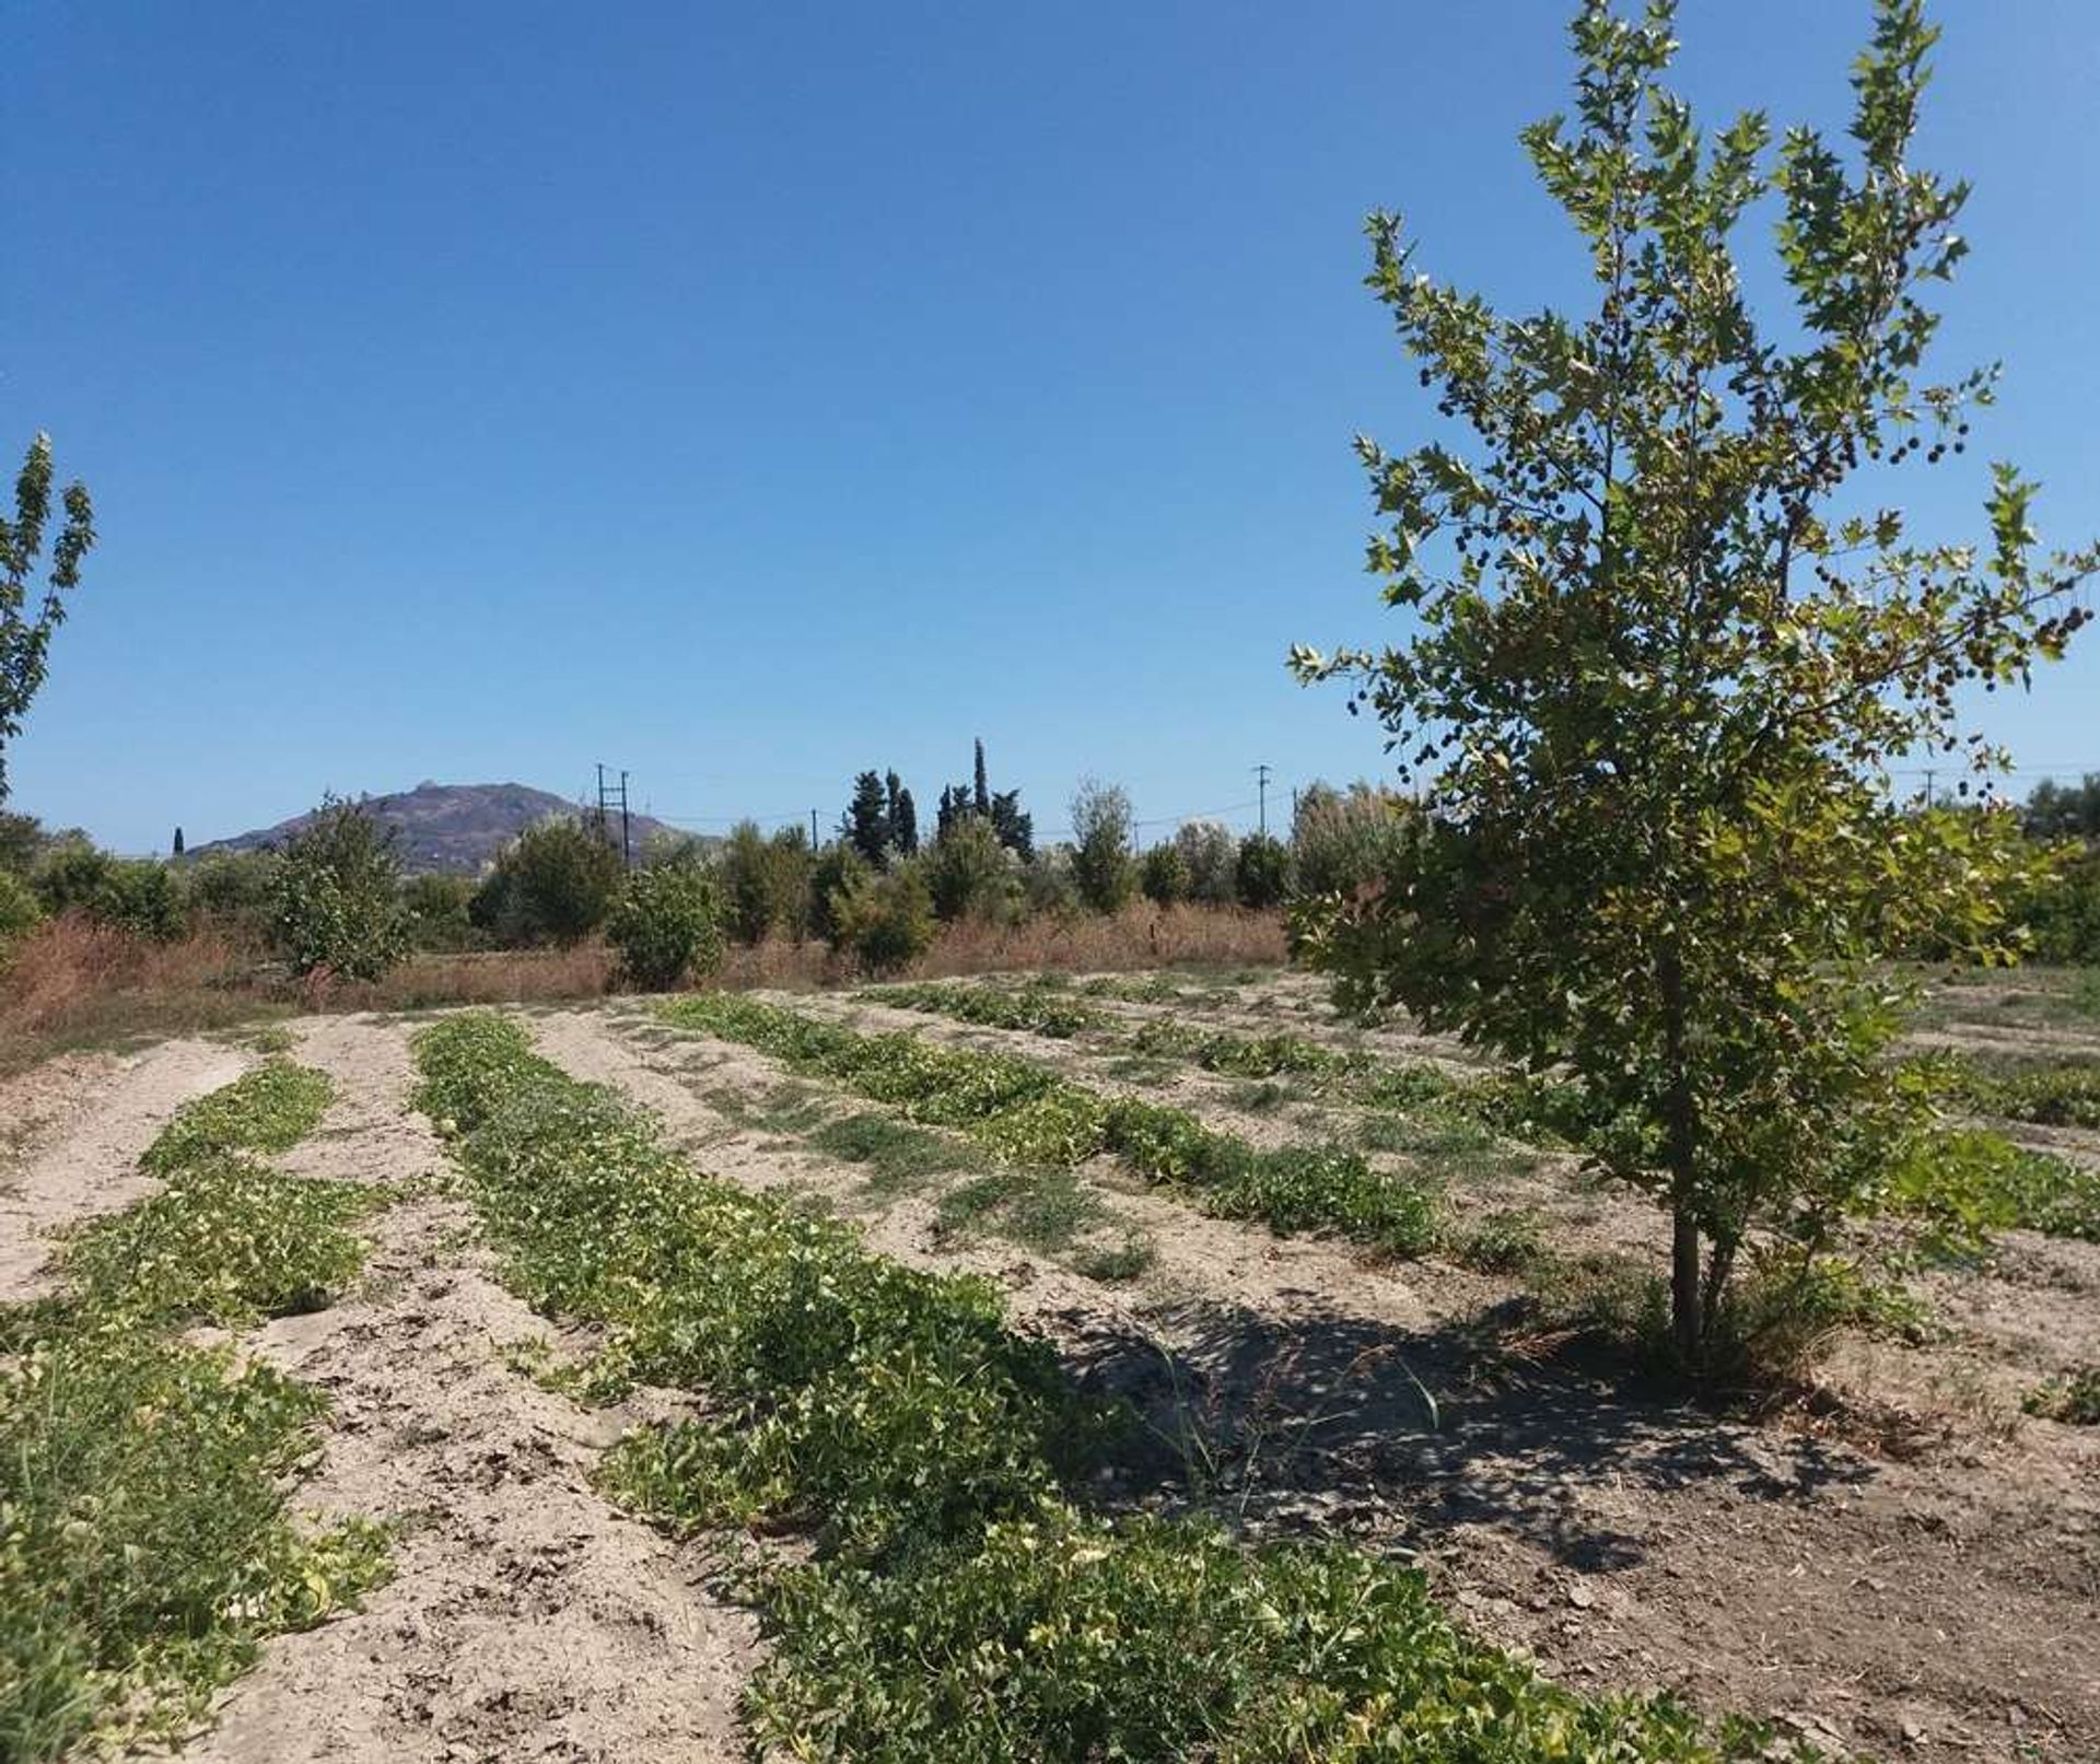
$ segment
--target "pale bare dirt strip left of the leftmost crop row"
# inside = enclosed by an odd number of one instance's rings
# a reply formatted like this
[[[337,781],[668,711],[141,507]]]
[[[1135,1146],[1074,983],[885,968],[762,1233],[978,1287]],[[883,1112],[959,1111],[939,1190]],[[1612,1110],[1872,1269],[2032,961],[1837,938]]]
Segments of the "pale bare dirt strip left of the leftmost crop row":
[[[252,1056],[212,1042],[162,1042],[130,1058],[52,1060],[0,1092],[27,1144],[0,1172],[0,1298],[48,1289],[48,1231],[128,1205],[153,1186],[139,1155],[189,1098],[231,1084]]]

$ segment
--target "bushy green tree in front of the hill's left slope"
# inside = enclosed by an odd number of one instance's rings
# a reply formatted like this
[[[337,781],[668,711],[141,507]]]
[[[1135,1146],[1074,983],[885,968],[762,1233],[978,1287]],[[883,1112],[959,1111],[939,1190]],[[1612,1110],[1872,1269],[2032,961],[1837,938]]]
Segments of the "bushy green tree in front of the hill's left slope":
[[[407,953],[401,859],[391,830],[334,796],[284,842],[271,916],[298,974],[376,981]]]

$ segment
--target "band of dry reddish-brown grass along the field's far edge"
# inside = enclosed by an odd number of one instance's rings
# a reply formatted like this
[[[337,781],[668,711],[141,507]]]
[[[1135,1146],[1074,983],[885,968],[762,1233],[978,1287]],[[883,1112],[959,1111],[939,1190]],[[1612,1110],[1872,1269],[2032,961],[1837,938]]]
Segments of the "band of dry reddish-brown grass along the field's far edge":
[[[1115,918],[947,926],[911,972],[1273,966],[1283,958],[1279,914],[1134,905]],[[815,989],[855,979],[853,964],[821,943],[769,941],[731,949],[718,985]],[[603,943],[412,956],[380,981],[294,981],[223,930],[149,943],[67,916],[21,939],[0,972],[0,1071],[71,1048],[122,1048],[294,1012],[550,1004],[598,998],[615,981],[615,958]]]

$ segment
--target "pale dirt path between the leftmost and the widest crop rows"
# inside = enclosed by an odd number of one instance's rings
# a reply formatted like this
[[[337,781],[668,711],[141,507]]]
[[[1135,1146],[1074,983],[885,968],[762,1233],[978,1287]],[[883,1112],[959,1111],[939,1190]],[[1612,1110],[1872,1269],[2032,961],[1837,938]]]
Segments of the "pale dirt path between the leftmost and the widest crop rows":
[[[336,1079],[286,1168],[403,1180],[443,1163],[407,1109],[405,1031],[302,1025],[296,1058]],[[752,1617],[697,1581],[691,1552],[622,1518],[586,1480],[624,1426],[506,1369],[548,1325],[506,1294],[458,1201],[376,1216],[363,1292],[281,1319],[256,1348],[326,1388],[334,1420],[302,1506],[401,1527],[397,1575],[363,1613],[265,1651],[185,1756],[220,1764],[741,1758],[735,1699]]]

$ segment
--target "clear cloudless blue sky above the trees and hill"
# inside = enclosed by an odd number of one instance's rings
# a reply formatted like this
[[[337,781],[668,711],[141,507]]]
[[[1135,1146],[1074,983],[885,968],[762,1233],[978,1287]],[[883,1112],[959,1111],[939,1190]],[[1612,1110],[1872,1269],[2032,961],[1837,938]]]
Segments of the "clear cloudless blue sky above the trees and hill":
[[[1533,307],[1579,258],[1516,130],[1556,0],[6,6],[0,443],[103,544],[15,804],[124,848],[424,777],[714,825],[926,811],[983,735],[1037,825],[1382,764],[1294,638],[1384,638],[1359,428],[1424,397],[1365,210]],[[1976,183],[1949,370],[2100,531],[2092,0],[1940,0]],[[1842,126],[1865,0],[1686,0],[1707,105]],[[1980,523],[1970,523],[1980,525]],[[1997,699],[2100,766],[2100,632]],[[1252,819],[1235,811],[1235,821]]]

